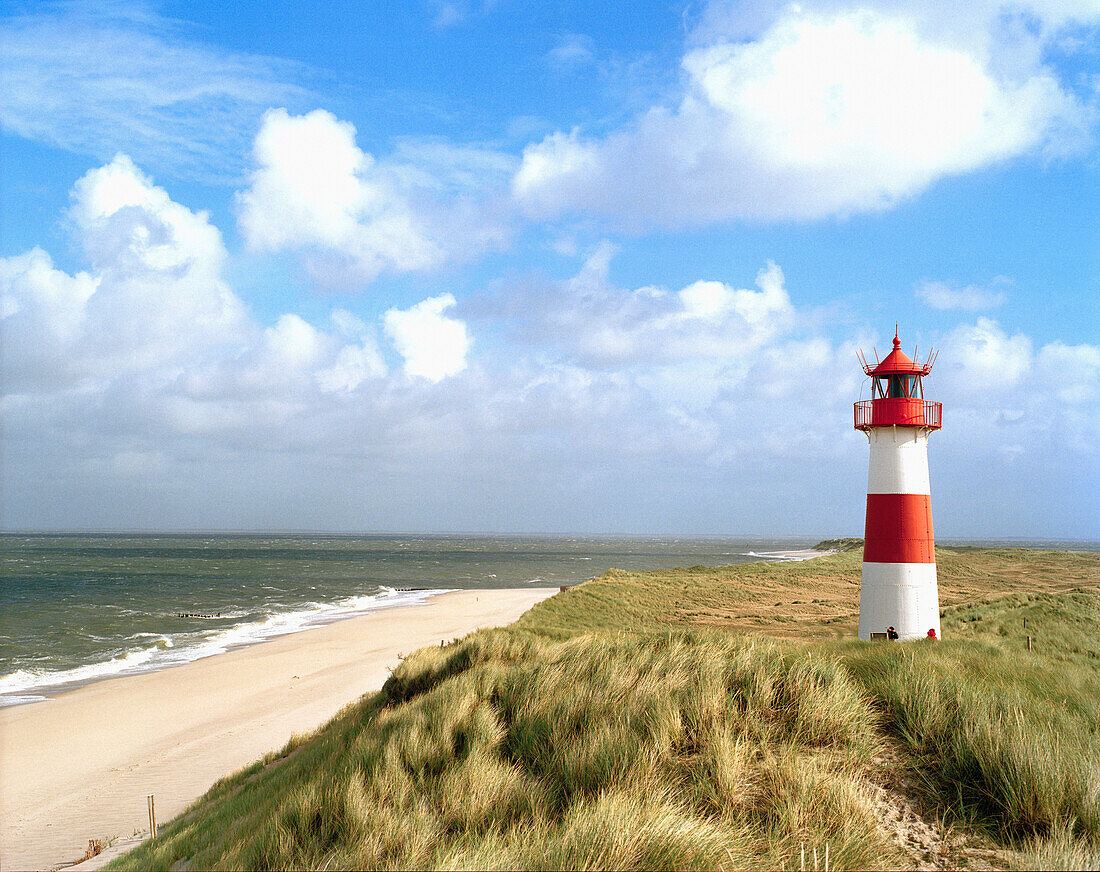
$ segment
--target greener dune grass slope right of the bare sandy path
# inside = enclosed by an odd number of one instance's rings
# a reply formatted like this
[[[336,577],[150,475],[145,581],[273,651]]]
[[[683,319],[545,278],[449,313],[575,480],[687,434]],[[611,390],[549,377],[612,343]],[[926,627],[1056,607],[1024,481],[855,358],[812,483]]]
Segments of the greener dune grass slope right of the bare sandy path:
[[[945,814],[1009,840],[1060,829],[1100,845],[1098,604],[1085,589],[1009,596],[949,610],[939,644],[833,653]]]

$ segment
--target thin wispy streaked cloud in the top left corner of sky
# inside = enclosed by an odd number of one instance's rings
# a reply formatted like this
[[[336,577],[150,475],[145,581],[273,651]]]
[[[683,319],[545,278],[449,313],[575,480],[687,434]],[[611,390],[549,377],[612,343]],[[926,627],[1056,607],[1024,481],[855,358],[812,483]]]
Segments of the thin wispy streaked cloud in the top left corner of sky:
[[[16,135],[207,180],[235,178],[255,119],[306,99],[305,68],[220,52],[147,12],[66,4],[0,21],[0,125]]]

